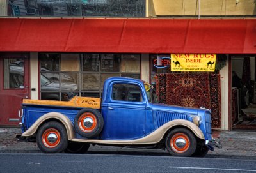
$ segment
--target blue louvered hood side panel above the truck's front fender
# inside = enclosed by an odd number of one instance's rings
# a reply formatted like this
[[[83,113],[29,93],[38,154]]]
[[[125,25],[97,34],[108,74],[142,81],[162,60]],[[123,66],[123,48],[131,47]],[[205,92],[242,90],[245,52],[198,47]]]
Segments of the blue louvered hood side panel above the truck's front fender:
[[[160,127],[163,124],[172,121],[174,119],[186,119],[188,120],[188,115],[186,114],[177,114],[170,112],[157,112],[156,113],[157,126]]]

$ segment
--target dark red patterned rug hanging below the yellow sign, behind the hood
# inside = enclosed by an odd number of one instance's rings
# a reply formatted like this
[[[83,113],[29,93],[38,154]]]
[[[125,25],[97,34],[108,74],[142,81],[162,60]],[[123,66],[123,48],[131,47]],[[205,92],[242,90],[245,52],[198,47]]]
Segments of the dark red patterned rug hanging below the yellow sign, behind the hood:
[[[160,103],[212,110],[212,128],[221,127],[220,75],[172,73],[157,75]]]

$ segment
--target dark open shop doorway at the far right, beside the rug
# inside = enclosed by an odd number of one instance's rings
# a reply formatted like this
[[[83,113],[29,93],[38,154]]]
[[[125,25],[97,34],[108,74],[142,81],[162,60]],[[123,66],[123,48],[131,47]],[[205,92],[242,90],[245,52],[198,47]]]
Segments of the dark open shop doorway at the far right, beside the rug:
[[[256,129],[255,56],[231,56],[233,129]]]

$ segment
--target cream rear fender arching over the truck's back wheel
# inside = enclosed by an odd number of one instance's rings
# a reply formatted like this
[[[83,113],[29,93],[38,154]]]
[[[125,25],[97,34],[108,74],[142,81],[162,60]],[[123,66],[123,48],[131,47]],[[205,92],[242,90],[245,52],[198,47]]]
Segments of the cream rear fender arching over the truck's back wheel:
[[[72,140],[72,138],[76,137],[74,132],[74,127],[70,119],[68,119],[67,116],[59,112],[49,112],[47,114],[44,114],[44,116],[41,116],[40,118],[38,118],[36,122],[33,123],[33,125],[28,130],[26,130],[26,132],[22,133],[21,136],[31,137],[36,133],[36,131],[38,130],[38,127],[41,124],[43,124],[45,121],[47,121],[47,119],[57,119],[58,121],[60,121],[67,130],[68,140]]]

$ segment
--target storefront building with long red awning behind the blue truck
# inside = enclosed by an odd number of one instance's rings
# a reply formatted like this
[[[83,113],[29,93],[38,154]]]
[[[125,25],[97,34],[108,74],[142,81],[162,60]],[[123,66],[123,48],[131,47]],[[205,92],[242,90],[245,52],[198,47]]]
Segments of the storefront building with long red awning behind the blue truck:
[[[105,79],[124,76],[150,82],[162,103],[212,109],[214,128],[256,127],[255,1],[1,3],[0,125],[19,123],[23,98],[100,97]],[[171,54],[216,54],[216,70],[156,66]]]

